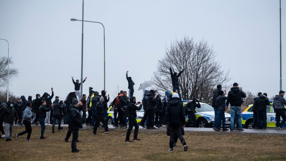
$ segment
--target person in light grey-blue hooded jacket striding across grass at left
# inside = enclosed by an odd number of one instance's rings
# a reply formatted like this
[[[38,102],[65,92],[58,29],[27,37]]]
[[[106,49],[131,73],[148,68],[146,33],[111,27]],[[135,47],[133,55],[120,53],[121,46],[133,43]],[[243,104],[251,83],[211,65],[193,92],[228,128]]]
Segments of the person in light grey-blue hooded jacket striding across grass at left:
[[[27,142],[30,141],[30,137],[31,137],[31,134],[32,134],[32,127],[31,127],[31,124],[30,124],[30,121],[31,119],[33,119],[34,116],[32,115],[32,103],[31,102],[27,102],[26,103],[26,108],[24,110],[24,113],[23,113],[23,124],[25,125],[25,131],[23,132],[20,132],[19,134],[15,134],[15,139],[18,139],[19,136],[21,135],[24,135],[24,134],[27,134]]]

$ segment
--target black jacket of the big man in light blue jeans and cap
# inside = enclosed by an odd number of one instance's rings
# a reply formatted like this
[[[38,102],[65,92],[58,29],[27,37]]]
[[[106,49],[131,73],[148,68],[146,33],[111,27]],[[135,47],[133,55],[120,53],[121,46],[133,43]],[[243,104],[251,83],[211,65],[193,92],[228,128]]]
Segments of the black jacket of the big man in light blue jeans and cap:
[[[239,86],[233,86],[230,89],[227,95],[226,105],[228,106],[230,103],[231,106],[241,106],[241,98],[245,98],[246,94],[239,89]]]

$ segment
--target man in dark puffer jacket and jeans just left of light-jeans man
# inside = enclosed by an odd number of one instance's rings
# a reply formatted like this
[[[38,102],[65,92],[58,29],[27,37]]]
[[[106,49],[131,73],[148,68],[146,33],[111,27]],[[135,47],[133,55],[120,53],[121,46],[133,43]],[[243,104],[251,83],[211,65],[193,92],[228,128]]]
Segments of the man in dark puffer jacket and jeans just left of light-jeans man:
[[[219,125],[221,122],[222,122],[222,131],[228,131],[229,130],[225,127],[224,111],[226,110],[226,108],[225,108],[226,107],[226,104],[225,104],[226,99],[227,99],[227,97],[224,96],[224,91],[220,90],[219,96],[215,100],[215,106],[217,107],[217,109],[219,111],[219,119],[217,120],[216,127],[214,129],[215,131],[220,131]]]

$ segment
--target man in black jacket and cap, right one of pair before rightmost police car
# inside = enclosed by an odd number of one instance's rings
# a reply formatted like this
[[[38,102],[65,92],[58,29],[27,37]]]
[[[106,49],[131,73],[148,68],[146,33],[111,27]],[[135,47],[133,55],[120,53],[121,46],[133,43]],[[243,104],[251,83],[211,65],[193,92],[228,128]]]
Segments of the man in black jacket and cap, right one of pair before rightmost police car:
[[[267,115],[266,115],[266,108],[267,105],[270,105],[269,100],[267,98],[267,94],[264,93],[260,95],[255,101],[254,104],[257,109],[257,125],[256,129],[267,129],[266,128],[266,120],[267,120]],[[261,128],[261,118],[263,120],[263,128]]]

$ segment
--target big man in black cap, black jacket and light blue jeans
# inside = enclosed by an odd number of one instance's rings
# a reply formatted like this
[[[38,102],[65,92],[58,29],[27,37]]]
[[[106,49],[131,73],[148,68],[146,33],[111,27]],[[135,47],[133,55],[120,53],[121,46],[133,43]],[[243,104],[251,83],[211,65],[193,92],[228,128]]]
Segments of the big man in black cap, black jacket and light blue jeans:
[[[242,129],[241,124],[241,98],[245,98],[246,94],[243,92],[243,89],[240,89],[237,83],[233,83],[233,87],[230,88],[229,93],[227,94],[226,99],[226,110],[229,109],[230,104],[230,122],[231,122],[231,129],[230,131],[233,132],[234,129],[234,117],[238,119],[238,130],[244,131]]]

